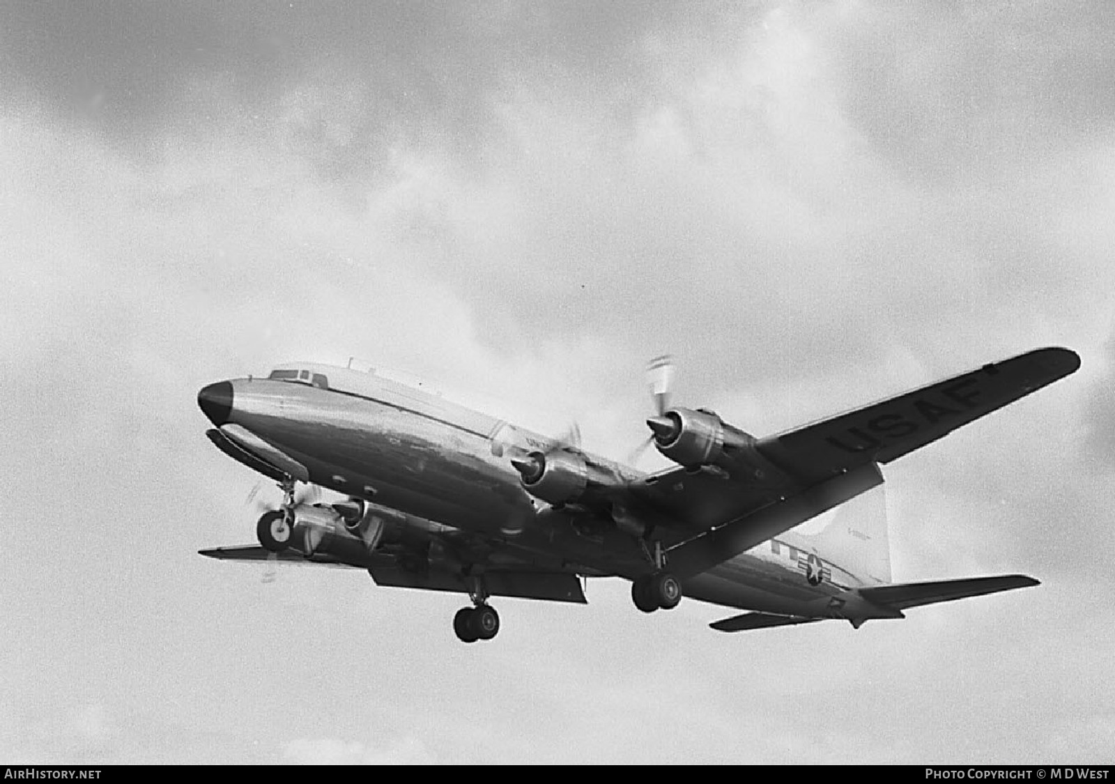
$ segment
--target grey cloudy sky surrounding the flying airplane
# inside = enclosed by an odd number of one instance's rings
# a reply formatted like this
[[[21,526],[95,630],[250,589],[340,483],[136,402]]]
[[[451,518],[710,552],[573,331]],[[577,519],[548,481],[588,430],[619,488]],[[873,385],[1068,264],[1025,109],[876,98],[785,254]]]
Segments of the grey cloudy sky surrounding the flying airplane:
[[[0,2],[0,761],[1109,762],[1113,214],[1105,3]],[[663,351],[764,435],[1051,345],[886,471],[898,579],[1036,589],[720,635],[600,581],[463,646],[196,555],[256,482],[196,390],[285,359],[622,457]]]

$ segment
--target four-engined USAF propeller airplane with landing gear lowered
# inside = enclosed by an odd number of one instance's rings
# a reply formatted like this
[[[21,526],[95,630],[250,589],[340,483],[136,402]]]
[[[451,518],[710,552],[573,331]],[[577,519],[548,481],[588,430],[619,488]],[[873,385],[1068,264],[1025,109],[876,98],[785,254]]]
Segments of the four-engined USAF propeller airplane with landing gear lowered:
[[[673,365],[649,368],[648,444],[676,466],[643,473],[375,371],[313,362],[201,389],[223,453],[283,493],[235,561],[368,570],[379,585],[466,593],[464,642],[500,630],[493,597],[585,603],[619,577],[643,612],[682,596],[741,614],[735,632],[905,610],[1039,584],[1022,574],[892,582],[886,522],[793,529],[883,483],[881,464],[1076,371],[1043,348],[785,433],[757,438],[707,408],[671,405]],[[644,444],[646,446],[646,444]],[[632,461],[633,462],[633,461]],[[299,483],[342,496],[300,497]],[[838,514],[838,513],[837,513]]]

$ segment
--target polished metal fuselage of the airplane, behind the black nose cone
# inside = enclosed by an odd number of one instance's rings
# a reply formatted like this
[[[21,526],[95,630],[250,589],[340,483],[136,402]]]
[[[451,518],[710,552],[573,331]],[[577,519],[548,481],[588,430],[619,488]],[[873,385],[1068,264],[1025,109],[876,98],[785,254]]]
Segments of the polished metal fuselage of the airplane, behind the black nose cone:
[[[585,524],[533,499],[506,453],[553,442],[440,396],[351,370],[328,388],[285,380],[231,381],[229,424],[246,428],[306,467],[310,482],[460,531],[582,573],[627,573],[644,561],[638,541]],[[620,481],[639,472],[586,456]],[[591,523],[591,521],[588,521]],[[601,521],[603,522],[603,521]],[[811,559],[812,555],[812,559]],[[872,616],[863,582],[787,532],[685,581],[686,596],[765,612]]]

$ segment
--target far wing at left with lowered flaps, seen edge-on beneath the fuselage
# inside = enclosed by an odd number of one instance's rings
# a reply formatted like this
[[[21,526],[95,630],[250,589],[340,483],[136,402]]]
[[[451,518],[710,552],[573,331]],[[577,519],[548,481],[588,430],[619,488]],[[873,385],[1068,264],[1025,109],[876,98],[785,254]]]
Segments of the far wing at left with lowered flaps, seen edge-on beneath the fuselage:
[[[367,564],[345,563],[329,555],[312,555],[306,558],[285,550],[272,553],[261,546],[244,545],[234,548],[214,548],[200,550],[200,554],[222,561],[255,561],[297,564],[320,564],[349,569],[367,569],[377,585],[392,588],[417,588],[428,591],[450,591],[468,593],[469,585],[459,574],[439,569],[428,569],[414,572],[403,569],[398,558],[389,552],[376,552],[368,556]],[[488,592],[496,597],[517,597],[520,599],[541,599],[546,601],[565,601],[579,604],[588,603],[581,589],[581,581],[571,572],[554,572],[534,569],[529,564],[488,567],[484,572]]]

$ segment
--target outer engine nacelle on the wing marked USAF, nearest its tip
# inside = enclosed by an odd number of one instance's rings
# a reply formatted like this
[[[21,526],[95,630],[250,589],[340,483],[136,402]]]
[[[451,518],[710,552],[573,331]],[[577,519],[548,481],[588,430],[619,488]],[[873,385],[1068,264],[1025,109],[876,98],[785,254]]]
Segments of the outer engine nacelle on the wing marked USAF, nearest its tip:
[[[712,412],[673,408],[647,424],[658,451],[687,468],[717,466],[755,481],[779,473],[756,448],[755,436],[726,424]]]

